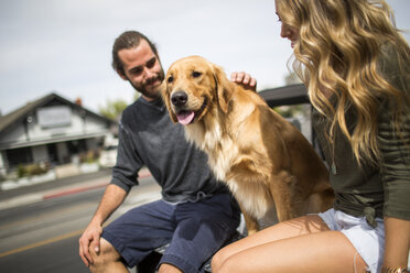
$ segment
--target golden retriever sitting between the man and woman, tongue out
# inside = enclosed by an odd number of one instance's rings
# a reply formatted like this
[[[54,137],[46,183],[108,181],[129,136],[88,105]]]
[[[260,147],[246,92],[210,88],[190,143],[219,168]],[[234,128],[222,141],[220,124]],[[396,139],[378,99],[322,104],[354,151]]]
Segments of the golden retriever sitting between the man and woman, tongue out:
[[[172,121],[185,125],[186,139],[206,152],[215,176],[236,197],[249,234],[272,207],[283,221],[332,206],[322,160],[257,92],[199,56],[173,63],[163,85]]]

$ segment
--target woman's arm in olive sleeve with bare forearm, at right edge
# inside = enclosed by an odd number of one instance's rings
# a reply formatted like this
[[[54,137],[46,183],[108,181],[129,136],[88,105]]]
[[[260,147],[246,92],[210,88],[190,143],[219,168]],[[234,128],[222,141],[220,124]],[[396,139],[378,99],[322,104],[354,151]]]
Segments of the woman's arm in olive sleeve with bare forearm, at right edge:
[[[388,107],[389,105],[386,103]],[[381,152],[381,179],[385,190],[385,256],[387,269],[409,266],[410,247],[410,112],[401,116],[402,131],[391,123],[390,108],[379,116],[378,142]],[[386,271],[396,272],[396,271]]]

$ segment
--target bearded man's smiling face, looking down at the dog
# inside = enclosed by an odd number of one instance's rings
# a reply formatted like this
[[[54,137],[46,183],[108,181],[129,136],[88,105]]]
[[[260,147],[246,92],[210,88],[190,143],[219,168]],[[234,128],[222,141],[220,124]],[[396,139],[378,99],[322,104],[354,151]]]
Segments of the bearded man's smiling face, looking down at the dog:
[[[133,48],[126,48],[118,52],[123,65],[125,80],[129,80],[147,100],[153,100],[160,96],[160,85],[164,79],[160,59],[152,52],[145,40]]]

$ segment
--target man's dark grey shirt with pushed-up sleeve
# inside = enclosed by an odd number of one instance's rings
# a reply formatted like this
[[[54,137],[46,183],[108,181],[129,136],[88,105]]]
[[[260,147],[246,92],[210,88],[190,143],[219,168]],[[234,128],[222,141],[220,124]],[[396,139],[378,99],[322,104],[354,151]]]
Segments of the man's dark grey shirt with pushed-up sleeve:
[[[187,143],[183,125],[172,123],[161,98],[149,102],[140,97],[123,111],[111,184],[129,192],[143,165],[170,203],[227,192],[212,174],[206,154]]]

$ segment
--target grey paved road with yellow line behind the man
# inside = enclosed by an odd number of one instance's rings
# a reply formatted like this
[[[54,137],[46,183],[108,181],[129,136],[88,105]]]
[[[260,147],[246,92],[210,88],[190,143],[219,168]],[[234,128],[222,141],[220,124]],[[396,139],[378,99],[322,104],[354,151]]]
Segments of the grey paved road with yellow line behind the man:
[[[87,182],[96,183],[96,179],[108,182],[109,175],[83,177],[82,181],[77,177],[77,181],[65,182],[65,186],[87,185]],[[131,207],[160,198],[160,188],[151,177],[142,178],[140,183],[110,219]],[[48,186],[39,186],[41,189],[33,192],[53,190]],[[20,196],[32,194],[29,188],[19,190]],[[78,256],[78,238],[96,210],[102,192],[104,187],[89,187],[88,190],[0,210],[0,272],[88,272]],[[0,198],[6,196],[0,195]]]

